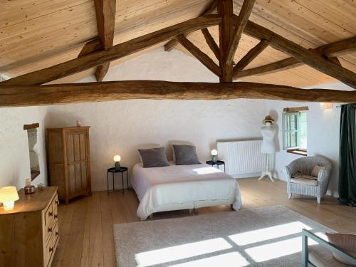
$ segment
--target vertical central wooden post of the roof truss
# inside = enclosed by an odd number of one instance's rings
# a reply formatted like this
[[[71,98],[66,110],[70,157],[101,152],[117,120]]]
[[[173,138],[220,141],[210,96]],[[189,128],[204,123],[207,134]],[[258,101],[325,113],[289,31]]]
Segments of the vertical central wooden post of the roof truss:
[[[220,43],[220,68],[221,68],[221,83],[232,82],[233,62],[228,61],[229,47],[231,38],[234,34],[233,21],[233,4],[232,0],[218,0],[218,14],[221,15],[221,23],[219,24],[219,43]]]

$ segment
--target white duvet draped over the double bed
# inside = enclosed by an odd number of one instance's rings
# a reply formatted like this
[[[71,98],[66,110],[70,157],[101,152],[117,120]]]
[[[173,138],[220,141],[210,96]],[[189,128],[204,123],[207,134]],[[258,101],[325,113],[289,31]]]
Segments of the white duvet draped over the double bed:
[[[233,208],[241,207],[236,179],[208,164],[172,164],[155,168],[135,164],[132,187],[140,200],[137,209],[140,219],[147,219],[159,206],[167,204],[234,198]]]

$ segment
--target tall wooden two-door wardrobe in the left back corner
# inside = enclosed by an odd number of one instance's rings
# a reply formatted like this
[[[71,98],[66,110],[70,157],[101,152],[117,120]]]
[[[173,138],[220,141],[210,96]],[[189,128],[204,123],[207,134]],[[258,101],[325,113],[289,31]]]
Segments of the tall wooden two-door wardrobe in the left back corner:
[[[49,184],[65,200],[91,195],[89,126],[46,129]]]

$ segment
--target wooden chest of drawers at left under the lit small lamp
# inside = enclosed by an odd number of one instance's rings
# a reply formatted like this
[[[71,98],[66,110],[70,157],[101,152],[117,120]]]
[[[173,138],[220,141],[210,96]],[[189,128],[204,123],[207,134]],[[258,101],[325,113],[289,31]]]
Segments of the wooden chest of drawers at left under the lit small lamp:
[[[0,207],[0,266],[51,266],[59,240],[58,187],[19,191],[12,211]]]

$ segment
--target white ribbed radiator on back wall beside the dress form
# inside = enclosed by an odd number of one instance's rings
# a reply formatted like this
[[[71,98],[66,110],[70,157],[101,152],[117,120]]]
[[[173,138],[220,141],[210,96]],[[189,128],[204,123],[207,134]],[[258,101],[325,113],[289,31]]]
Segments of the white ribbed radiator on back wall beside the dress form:
[[[262,140],[219,141],[216,145],[227,174],[235,178],[261,175],[266,164],[261,153]]]

